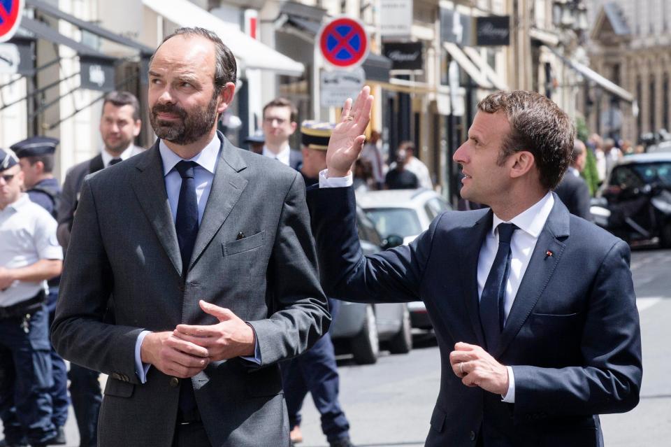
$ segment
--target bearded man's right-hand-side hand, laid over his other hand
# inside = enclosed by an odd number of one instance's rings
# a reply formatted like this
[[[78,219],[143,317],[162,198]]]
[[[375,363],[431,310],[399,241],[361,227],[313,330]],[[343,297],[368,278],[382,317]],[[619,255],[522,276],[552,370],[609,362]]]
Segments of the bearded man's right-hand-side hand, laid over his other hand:
[[[227,308],[202,299],[199,304],[203,312],[215,316],[219,322],[216,325],[178,325],[173,331],[175,337],[202,346],[211,361],[254,355],[256,340],[252,327]]]

